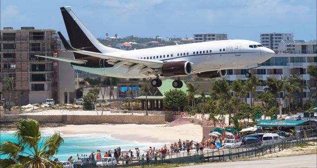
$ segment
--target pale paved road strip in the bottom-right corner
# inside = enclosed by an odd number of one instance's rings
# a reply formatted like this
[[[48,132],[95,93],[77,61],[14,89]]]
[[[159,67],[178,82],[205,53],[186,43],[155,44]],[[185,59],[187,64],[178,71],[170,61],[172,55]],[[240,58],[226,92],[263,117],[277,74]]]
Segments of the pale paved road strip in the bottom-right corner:
[[[289,156],[252,161],[220,162],[182,168],[317,168],[317,155]]]

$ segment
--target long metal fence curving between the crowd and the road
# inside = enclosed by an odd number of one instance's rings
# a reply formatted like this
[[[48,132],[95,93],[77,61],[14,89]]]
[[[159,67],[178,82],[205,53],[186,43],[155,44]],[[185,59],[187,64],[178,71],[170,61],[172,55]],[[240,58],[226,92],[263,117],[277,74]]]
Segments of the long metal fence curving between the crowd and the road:
[[[86,162],[73,163],[69,167],[64,168],[97,168],[97,167],[144,167],[158,164],[188,164],[203,162],[221,162],[225,160],[233,160],[239,158],[252,158],[264,156],[284,150],[285,148],[297,146],[303,143],[317,141],[317,129],[298,130],[294,132],[293,137],[272,140],[269,143],[258,143],[252,145],[243,145],[238,148],[220,148],[220,149],[204,149],[203,151],[191,150],[190,152],[180,151],[179,153],[144,156],[134,158],[118,158],[116,161],[104,162]],[[98,166],[98,165],[99,166]]]

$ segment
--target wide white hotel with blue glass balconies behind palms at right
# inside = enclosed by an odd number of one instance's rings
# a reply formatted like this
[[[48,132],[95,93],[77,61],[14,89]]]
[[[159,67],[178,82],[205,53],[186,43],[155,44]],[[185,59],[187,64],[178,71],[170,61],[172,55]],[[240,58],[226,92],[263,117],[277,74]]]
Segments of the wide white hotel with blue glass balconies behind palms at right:
[[[273,77],[281,79],[288,74],[300,74],[300,77],[305,79],[305,83],[310,85],[309,89],[304,89],[301,94],[294,94],[295,98],[306,99],[312,98],[314,92],[316,92],[316,80],[306,73],[307,66],[317,66],[317,42],[294,42],[295,45],[293,53],[280,53],[275,54],[272,58],[268,59],[261,64],[261,67],[250,70],[253,75],[256,75],[262,82],[262,86],[258,86],[256,93],[252,95],[254,99],[255,95],[259,92],[263,92],[267,87],[264,83],[267,77]],[[231,69],[227,71],[225,79],[229,82],[240,79],[246,81],[245,73],[247,69]],[[280,97],[283,97],[283,92],[280,93]],[[250,95],[248,95],[247,103],[250,103]],[[262,102],[255,101],[255,103],[262,104]],[[281,98],[281,103],[284,107],[288,106],[288,102]]]

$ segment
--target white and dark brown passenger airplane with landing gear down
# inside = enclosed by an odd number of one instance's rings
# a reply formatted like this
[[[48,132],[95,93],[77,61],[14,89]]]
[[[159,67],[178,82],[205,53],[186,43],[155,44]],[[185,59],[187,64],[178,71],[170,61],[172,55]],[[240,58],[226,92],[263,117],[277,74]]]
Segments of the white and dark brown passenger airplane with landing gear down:
[[[161,86],[159,77],[176,78],[174,88],[181,88],[182,76],[194,74],[201,79],[224,77],[227,69],[250,69],[274,55],[274,51],[259,42],[222,40],[177,44],[145,49],[121,50],[99,42],[71,10],[60,7],[70,43],[58,32],[64,47],[74,53],[74,59],[36,55],[71,63],[76,70],[116,78],[154,78],[151,84]],[[254,66],[254,67],[252,67]]]

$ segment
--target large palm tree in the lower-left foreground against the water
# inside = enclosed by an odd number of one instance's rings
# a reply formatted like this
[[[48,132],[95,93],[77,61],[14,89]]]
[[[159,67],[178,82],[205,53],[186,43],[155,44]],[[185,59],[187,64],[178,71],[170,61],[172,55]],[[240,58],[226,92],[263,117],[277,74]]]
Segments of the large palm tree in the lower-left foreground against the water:
[[[15,137],[18,142],[4,141],[0,145],[0,155],[8,155],[8,159],[1,161],[1,167],[55,167],[55,163],[49,158],[58,152],[58,148],[64,142],[59,132],[43,139],[39,129],[40,124],[32,119],[21,119],[15,126],[17,128]]]

